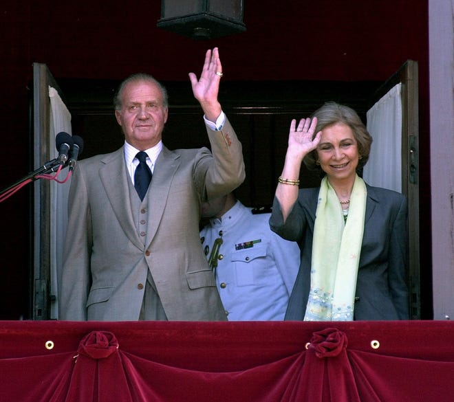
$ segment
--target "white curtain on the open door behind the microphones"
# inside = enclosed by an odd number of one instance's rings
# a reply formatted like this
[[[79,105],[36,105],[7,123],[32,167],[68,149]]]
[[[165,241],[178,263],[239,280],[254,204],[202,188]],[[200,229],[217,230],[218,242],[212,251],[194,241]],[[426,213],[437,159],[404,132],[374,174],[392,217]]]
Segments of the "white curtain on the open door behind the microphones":
[[[61,131],[72,135],[71,114],[65,103],[61,100],[56,89],[49,87],[50,98],[50,135],[49,149],[55,150],[55,157],[58,156],[56,149],[55,137]],[[67,176],[67,168],[61,170],[58,175],[59,180]],[[68,180],[66,183],[57,183],[50,181],[50,294],[58,296],[57,289],[57,267],[62,264],[63,260],[63,241],[67,227],[67,199],[69,192]],[[58,298],[57,298],[58,300]],[[58,303],[52,302],[50,306],[50,317],[58,317]]]

